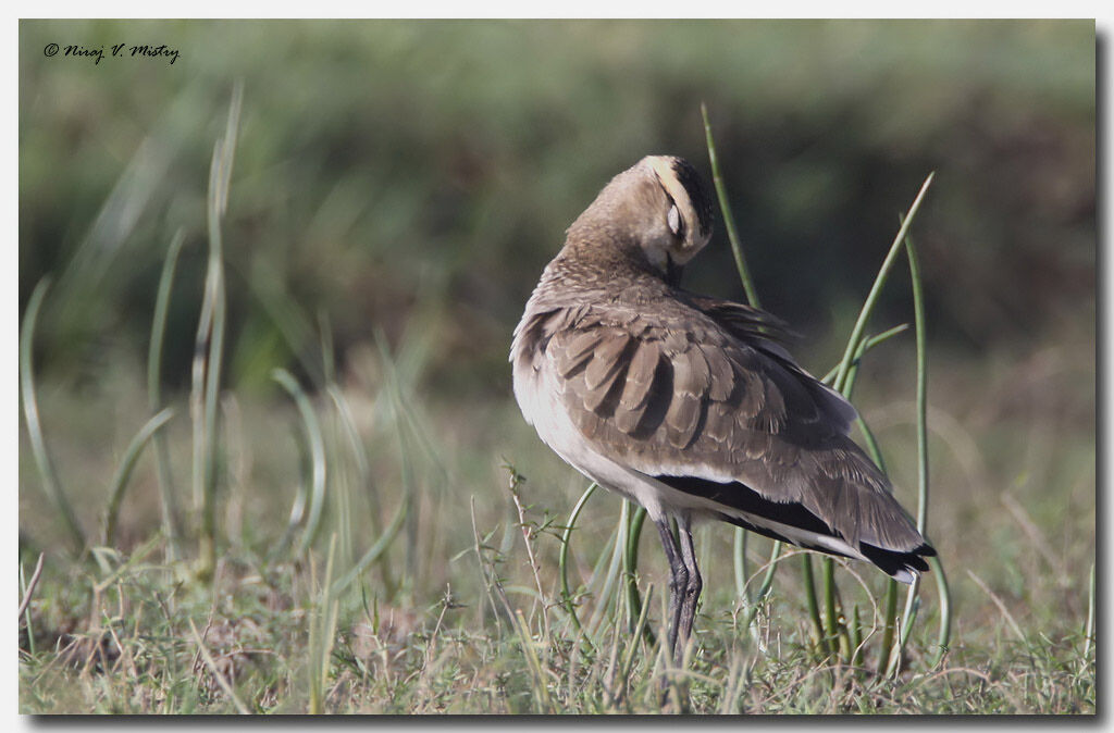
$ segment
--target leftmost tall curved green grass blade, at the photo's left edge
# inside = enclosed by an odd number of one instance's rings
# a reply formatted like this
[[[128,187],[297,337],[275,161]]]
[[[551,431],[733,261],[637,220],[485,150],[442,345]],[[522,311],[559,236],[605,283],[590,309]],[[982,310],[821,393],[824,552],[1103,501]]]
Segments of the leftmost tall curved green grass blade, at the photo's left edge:
[[[35,456],[35,463],[39,469],[39,477],[47,496],[51,498],[62,522],[69,534],[74,545],[74,551],[81,555],[86,548],[85,532],[74,514],[69,498],[62,489],[58,475],[55,472],[50,453],[47,450],[47,441],[42,437],[42,423],[39,421],[39,401],[35,389],[35,364],[32,362],[32,350],[35,348],[35,323],[39,317],[39,310],[42,307],[42,299],[47,295],[50,286],[50,277],[43,277],[35,286],[30,300],[27,302],[27,310],[23,312],[23,323],[19,334],[19,389],[20,397],[23,398],[23,419],[27,422],[27,434],[31,441],[31,453]]]

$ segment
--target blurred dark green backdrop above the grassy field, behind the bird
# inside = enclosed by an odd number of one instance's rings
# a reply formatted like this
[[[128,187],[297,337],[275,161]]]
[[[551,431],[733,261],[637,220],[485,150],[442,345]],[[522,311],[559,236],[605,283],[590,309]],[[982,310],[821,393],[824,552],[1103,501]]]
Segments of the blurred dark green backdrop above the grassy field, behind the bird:
[[[144,346],[184,227],[168,340],[184,380],[207,166],[235,79],[234,384],[310,361],[319,311],[342,363],[374,326],[395,339],[423,312],[438,329],[429,387],[505,394],[510,328],[604,183],[649,153],[707,169],[701,101],[763,303],[805,335],[846,321],[930,170],[917,242],[934,340],[980,352],[1093,330],[1092,22],[20,28],[20,310],[46,273],[69,271],[74,291],[46,315],[48,370],[96,361],[106,340]],[[47,58],[49,42],[180,57],[95,65]],[[722,222],[717,234],[686,285],[740,299]],[[907,300],[886,316],[908,319]]]

